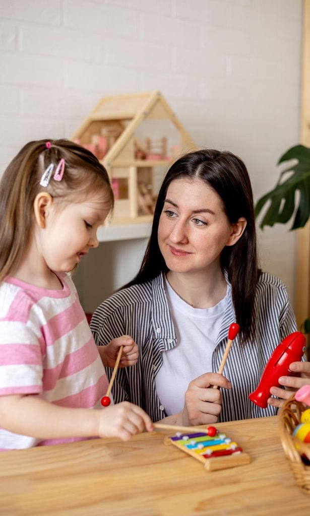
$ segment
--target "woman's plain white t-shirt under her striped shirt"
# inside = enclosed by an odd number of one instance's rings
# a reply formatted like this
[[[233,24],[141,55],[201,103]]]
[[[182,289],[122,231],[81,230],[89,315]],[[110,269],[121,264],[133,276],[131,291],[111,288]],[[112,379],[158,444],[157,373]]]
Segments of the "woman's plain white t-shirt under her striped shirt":
[[[231,298],[231,287],[227,285],[226,296],[215,307],[206,309],[191,307],[174,292],[166,279],[165,292],[177,344],[162,352],[163,363],[155,384],[161,405],[167,415],[171,415],[183,409],[189,382],[212,372],[212,353]]]

